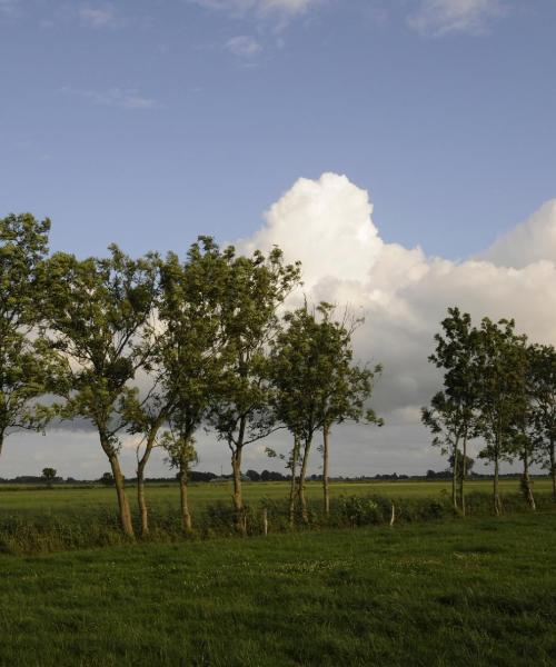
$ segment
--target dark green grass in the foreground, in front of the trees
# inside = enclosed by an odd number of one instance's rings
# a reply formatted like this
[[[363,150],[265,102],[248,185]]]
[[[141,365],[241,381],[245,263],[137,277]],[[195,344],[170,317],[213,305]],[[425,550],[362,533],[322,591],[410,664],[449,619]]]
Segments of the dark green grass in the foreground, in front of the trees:
[[[0,665],[556,663],[556,515],[0,557]]]

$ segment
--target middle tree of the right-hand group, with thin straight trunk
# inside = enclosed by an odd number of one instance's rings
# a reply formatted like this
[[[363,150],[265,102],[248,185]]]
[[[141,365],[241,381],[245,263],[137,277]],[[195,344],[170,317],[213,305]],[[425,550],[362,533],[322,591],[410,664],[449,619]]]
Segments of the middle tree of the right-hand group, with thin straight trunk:
[[[485,447],[479,457],[494,462],[493,506],[502,514],[499,465],[516,454],[515,426],[523,410],[523,349],[526,339],[515,334],[514,320],[497,323],[484,318],[478,330],[477,407]]]

